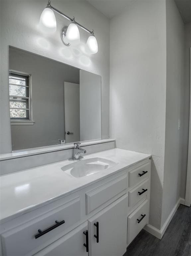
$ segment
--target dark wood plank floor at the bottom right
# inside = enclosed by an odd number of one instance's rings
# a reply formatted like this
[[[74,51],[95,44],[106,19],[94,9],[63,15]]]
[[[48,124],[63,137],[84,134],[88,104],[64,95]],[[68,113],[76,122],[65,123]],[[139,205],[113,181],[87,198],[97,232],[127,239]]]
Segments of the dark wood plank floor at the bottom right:
[[[124,256],[191,256],[191,207],[179,206],[161,240],[142,230]]]

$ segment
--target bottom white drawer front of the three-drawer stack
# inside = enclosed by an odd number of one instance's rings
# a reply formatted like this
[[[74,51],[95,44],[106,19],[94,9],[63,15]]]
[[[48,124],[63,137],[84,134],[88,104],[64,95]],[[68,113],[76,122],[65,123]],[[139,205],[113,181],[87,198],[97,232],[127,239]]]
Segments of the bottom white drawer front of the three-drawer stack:
[[[146,225],[147,210],[148,210],[148,201],[146,200],[134,212],[132,212],[132,214],[129,215],[128,224],[127,224],[128,245],[133,241],[133,239],[139,234],[139,232]],[[138,223],[138,220],[141,220],[140,223]]]

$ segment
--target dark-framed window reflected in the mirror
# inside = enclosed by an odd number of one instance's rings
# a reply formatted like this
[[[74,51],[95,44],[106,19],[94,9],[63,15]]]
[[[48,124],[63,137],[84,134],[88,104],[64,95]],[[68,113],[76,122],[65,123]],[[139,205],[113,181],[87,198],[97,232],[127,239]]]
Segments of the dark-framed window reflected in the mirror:
[[[30,83],[28,75],[9,73],[11,120],[30,120]]]

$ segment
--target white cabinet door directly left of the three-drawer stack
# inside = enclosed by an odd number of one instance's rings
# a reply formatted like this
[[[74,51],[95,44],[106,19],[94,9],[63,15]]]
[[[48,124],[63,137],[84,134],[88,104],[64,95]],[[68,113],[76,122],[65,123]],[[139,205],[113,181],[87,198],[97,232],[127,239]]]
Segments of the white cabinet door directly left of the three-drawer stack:
[[[89,256],[122,256],[126,252],[127,209],[126,194],[88,220]]]

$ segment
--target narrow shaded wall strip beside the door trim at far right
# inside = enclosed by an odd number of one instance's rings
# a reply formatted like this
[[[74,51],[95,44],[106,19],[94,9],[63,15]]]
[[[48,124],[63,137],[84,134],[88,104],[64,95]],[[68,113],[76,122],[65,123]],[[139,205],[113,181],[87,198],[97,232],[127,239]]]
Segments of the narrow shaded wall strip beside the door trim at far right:
[[[185,198],[185,191],[186,191],[186,174],[187,174],[187,149],[188,149],[188,130],[189,130],[189,104],[190,104],[190,48],[191,48],[191,23],[186,24],[184,26],[185,32],[185,52],[184,52],[184,126],[183,126],[183,133],[185,134],[183,138],[183,156],[184,161],[182,163],[182,180],[181,180],[181,190],[180,195],[182,198]]]

